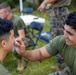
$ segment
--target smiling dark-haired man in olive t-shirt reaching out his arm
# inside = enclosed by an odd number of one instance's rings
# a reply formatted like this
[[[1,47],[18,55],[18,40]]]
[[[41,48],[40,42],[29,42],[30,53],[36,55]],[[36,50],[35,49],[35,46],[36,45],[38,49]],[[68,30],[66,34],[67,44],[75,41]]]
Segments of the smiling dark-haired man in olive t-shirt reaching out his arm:
[[[66,17],[64,34],[55,37],[47,45],[28,51],[20,39],[16,41],[18,54],[32,62],[45,60],[60,53],[70,69],[69,75],[76,75],[76,11]]]

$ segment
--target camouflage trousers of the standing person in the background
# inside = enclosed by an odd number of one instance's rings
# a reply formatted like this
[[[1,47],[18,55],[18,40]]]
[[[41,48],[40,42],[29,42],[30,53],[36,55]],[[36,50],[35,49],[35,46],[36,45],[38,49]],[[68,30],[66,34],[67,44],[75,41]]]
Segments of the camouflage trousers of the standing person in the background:
[[[67,15],[68,9],[66,7],[55,7],[49,10],[51,39],[58,35],[63,35],[63,27]],[[60,54],[56,56],[56,60],[59,68],[66,67],[66,64]]]

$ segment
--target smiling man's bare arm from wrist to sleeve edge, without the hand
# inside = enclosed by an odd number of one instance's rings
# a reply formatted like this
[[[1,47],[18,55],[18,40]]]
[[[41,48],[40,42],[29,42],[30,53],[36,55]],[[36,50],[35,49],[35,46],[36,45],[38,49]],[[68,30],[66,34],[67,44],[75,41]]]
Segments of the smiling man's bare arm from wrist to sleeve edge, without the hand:
[[[45,50],[45,47],[31,50],[31,51],[26,51],[23,54],[23,56],[30,61],[40,61],[40,60],[44,60],[44,59],[50,57],[48,52]]]

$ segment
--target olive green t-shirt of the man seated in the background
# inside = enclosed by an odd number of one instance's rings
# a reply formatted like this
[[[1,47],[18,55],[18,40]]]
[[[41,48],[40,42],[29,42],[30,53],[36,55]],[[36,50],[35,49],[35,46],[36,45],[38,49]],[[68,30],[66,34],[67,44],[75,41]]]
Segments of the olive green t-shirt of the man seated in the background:
[[[25,23],[23,22],[23,20],[19,16],[13,14],[11,21],[14,25],[15,36],[18,36],[18,30],[21,30],[21,29],[25,30],[25,34],[28,34],[27,27],[26,27]]]

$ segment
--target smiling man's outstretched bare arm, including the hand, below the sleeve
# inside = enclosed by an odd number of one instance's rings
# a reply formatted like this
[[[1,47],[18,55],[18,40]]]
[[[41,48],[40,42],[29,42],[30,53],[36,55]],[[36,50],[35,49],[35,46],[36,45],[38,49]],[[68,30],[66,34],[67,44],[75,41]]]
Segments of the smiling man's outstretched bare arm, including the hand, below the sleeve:
[[[22,55],[30,61],[40,61],[51,57],[51,55],[47,52],[45,46],[39,49],[28,51],[25,50],[25,45],[20,39],[16,39],[16,41],[17,43],[15,43],[15,45],[18,54]]]

